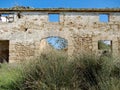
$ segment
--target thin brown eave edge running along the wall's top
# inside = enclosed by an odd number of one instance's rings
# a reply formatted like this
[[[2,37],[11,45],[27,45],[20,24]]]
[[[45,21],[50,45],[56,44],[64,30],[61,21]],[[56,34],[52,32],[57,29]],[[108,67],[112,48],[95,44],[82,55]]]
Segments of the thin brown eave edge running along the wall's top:
[[[120,8],[0,8],[0,12],[120,12]]]

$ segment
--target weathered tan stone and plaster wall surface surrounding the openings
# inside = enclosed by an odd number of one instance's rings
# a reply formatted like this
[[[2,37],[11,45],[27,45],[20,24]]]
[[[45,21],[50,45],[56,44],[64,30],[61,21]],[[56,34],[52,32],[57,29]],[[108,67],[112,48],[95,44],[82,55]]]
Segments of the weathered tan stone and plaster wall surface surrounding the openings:
[[[38,55],[42,39],[60,36],[68,40],[68,55],[97,54],[98,40],[112,40],[112,52],[120,53],[120,13],[109,13],[109,22],[97,12],[60,12],[59,22],[49,22],[50,12],[21,12],[14,22],[0,22],[0,40],[9,40],[10,62]],[[59,12],[58,12],[59,13]]]

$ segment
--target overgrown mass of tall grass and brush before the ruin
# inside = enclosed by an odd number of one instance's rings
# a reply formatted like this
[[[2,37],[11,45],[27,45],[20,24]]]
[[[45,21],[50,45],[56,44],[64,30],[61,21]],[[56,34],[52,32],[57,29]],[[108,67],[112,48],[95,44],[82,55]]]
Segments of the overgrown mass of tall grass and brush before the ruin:
[[[29,63],[1,65],[0,90],[120,90],[120,62],[43,54]]]

